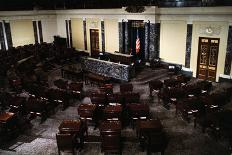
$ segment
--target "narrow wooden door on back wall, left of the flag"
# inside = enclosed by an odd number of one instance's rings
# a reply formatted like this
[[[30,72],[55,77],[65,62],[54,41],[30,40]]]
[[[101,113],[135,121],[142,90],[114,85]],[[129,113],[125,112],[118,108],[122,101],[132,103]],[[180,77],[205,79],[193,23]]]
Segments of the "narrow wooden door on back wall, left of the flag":
[[[99,56],[99,30],[90,29],[91,57]]]

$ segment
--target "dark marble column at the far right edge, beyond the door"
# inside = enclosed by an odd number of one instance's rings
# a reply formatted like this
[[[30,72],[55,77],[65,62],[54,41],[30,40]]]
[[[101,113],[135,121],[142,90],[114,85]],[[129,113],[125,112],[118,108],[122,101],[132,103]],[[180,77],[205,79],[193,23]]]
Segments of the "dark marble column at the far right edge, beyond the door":
[[[230,75],[232,61],[232,26],[229,26],[224,74]]]

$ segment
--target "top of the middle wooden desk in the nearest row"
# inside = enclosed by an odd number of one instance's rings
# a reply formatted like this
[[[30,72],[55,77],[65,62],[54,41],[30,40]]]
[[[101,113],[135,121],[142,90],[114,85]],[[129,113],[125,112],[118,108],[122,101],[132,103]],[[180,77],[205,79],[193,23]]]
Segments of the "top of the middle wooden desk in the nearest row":
[[[120,121],[103,121],[99,129],[101,133],[107,131],[120,132],[122,129],[122,124]]]

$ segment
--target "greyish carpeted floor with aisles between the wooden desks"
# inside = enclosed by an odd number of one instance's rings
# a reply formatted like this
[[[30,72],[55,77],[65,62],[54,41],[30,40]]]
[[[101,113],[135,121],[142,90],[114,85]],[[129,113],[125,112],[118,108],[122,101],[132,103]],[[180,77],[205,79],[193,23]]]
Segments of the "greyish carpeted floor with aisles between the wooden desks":
[[[52,81],[60,77],[60,70],[52,72],[49,76],[50,85]],[[148,81],[152,79],[164,80],[168,78],[165,69],[151,70],[144,68],[138,75],[131,80],[134,86],[134,92],[139,92],[141,102],[150,105],[151,113],[155,117],[159,117],[162,121],[164,129],[169,138],[169,144],[165,151],[167,155],[229,155],[228,142],[225,138],[216,140],[210,131],[201,132],[201,128],[193,127],[193,122],[187,123],[180,116],[175,115],[175,108],[171,106],[169,110],[158,104],[157,98],[149,97]],[[194,79],[192,80],[194,82]],[[227,87],[228,84],[214,83],[214,89],[220,90]],[[85,85],[85,93],[98,91],[95,86]],[[119,92],[119,84],[114,84],[114,92]],[[4,142],[0,146],[0,154],[2,155],[55,155],[58,154],[55,134],[58,132],[58,126],[64,119],[78,119],[77,107],[83,103],[91,102],[88,97],[82,101],[75,101],[66,110],[61,108],[56,110],[45,122],[40,124],[40,118],[36,118],[31,122],[31,127],[24,133],[20,134],[16,139]],[[231,106],[229,103],[227,106]],[[98,129],[93,127],[88,129],[89,135],[99,136]],[[135,130],[127,127],[122,130],[123,155],[145,155],[139,147]],[[68,153],[63,153],[68,154]],[[84,149],[77,152],[79,155],[102,155],[99,142],[85,143]],[[156,153],[159,154],[159,153]]]

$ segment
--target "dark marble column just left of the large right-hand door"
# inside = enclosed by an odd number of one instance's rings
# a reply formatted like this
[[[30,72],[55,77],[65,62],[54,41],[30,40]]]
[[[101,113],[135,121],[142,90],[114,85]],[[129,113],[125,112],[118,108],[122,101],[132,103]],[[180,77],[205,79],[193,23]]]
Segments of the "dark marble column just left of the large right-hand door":
[[[185,67],[187,68],[190,68],[192,30],[193,30],[193,25],[188,24],[187,25],[187,36],[186,36],[186,51],[185,51]]]

